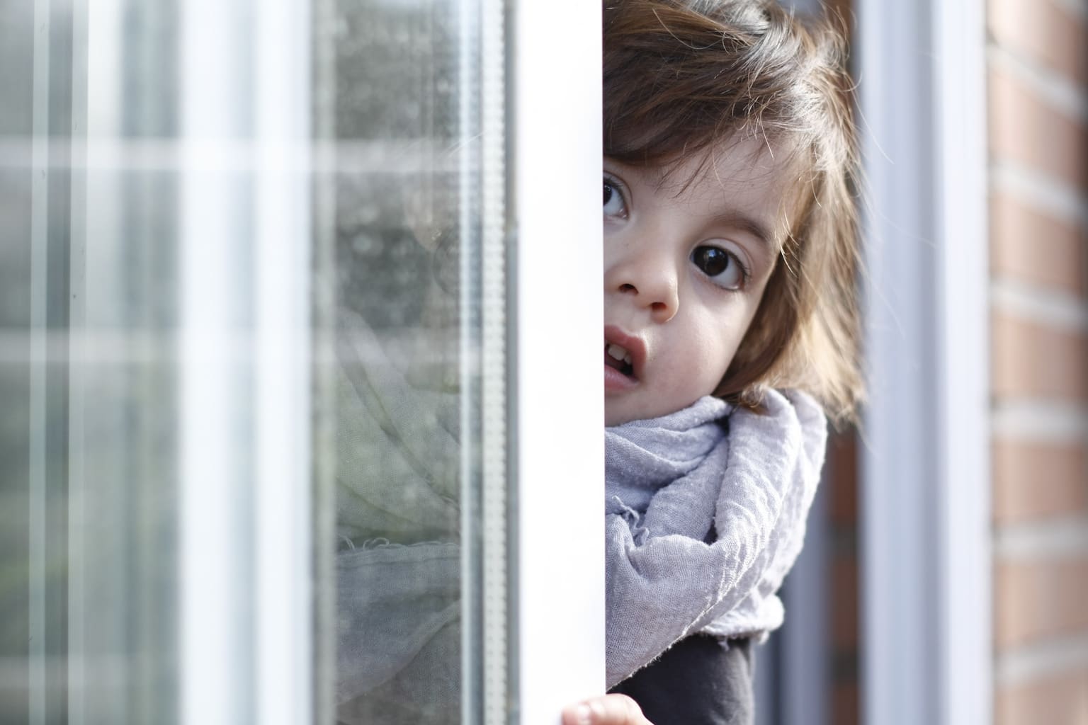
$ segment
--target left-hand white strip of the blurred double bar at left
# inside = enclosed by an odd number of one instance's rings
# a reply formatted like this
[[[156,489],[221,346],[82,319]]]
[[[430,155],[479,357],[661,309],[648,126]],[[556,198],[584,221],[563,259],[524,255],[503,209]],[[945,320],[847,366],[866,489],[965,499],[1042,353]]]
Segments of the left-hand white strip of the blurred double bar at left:
[[[214,143],[226,146],[242,115],[248,80],[237,47],[240,22],[211,0],[181,13],[180,153],[180,651],[185,725],[226,725],[252,712],[236,687],[251,660],[232,615],[247,589],[249,562],[239,552],[240,497],[232,496],[249,460],[232,446],[246,425],[237,388],[239,350],[232,320],[243,305],[238,278],[246,233],[243,202],[250,189],[235,174],[209,167]],[[248,43],[244,43],[244,47]],[[244,277],[243,277],[244,278]]]

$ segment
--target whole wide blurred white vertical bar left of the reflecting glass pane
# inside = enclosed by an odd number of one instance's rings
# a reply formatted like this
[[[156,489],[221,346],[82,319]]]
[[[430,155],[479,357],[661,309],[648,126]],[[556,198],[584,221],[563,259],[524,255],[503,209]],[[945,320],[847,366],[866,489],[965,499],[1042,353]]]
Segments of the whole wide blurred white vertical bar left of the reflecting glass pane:
[[[183,723],[314,712],[309,7],[182,4]]]

